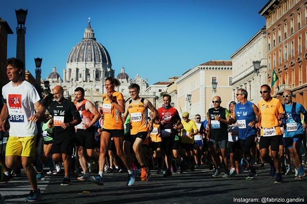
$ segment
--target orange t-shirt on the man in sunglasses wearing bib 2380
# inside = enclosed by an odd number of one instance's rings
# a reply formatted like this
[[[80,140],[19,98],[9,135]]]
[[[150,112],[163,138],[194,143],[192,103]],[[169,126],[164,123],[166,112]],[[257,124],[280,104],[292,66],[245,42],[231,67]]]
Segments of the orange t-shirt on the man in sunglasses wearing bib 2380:
[[[261,136],[281,135],[278,115],[283,113],[283,108],[280,101],[272,98],[270,102],[264,99],[258,102],[259,114],[261,115]],[[264,133],[265,131],[265,133]]]

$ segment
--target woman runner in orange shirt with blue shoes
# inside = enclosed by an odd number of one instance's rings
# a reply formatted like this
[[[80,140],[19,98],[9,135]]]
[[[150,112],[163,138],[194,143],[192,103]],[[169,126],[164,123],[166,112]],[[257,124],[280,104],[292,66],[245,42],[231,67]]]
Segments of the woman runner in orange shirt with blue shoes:
[[[135,182],[136,171],[131,168],[126,154],[123,152],[124,141],[124,125],[121,114],[125,112],[124,98],[120,92],[115,91],[120,82],[113,78],[108,77],[105,79],[104,87],[106,93],[103,94],[102,111],[104,114],[104,123],[102,134],[100,137],[100,151],[99,151],[99,174],[91,177],[91,182],[103,185],[103,170],[106,164],[106,154],[111,137],[114,138],[116,151],[118,157],[123,161],[128,170],[127,186],[131,186]]]

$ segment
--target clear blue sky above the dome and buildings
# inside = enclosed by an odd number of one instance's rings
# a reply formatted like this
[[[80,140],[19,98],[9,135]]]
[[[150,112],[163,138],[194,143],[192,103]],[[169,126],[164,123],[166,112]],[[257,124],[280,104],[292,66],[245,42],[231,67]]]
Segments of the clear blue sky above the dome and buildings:
[[[15,9],[28,9],[26,69],[35,76],[42,59],[45,80],[53,66],[63,76],[71,49],[82,40],[87,18],[95,37],[111,56],[115,75],[168,81],[210,60],[230,60],[265,24],[258,12],[269,0],[190,1],[6,1],[0,17],[14,34],[8,57],[16,56]]]

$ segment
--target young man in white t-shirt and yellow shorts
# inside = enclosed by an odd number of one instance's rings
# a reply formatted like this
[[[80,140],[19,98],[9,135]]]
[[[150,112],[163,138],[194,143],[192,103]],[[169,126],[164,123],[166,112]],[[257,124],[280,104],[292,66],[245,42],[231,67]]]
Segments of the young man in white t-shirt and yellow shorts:
[[[9,116],[10,136],[6,145],[5,163],[10,169],[22,164],[31,186],[25,201],[37,201],[41,199],[41,193],[32,166],[35,160],[36,122],[46,119],[46,109],[41,105],[34,86],[21,77],[23,71],[24,63],[21,60],[7,60],[6,73],[10,82],[2,88],[4,106],[0,114],[0,131],[5,131],[5,118]]]

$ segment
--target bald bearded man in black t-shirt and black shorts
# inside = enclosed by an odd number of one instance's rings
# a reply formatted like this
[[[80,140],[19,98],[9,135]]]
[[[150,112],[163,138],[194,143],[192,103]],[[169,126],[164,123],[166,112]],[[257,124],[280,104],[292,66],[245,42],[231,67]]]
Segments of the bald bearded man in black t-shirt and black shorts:
[[[65,176],[61,186],[67,186],[72,183],[69,178],[69,170],[74,162],[71,156],[76,138],[75,125],[81,122],[81,117],[76,106],[72,101],[65,99],[63,93],[61,86],[54,87],[55,101],[50,105],[52,119],[48,126],[54,126],[52,159],[56,162],[63,162]]]

